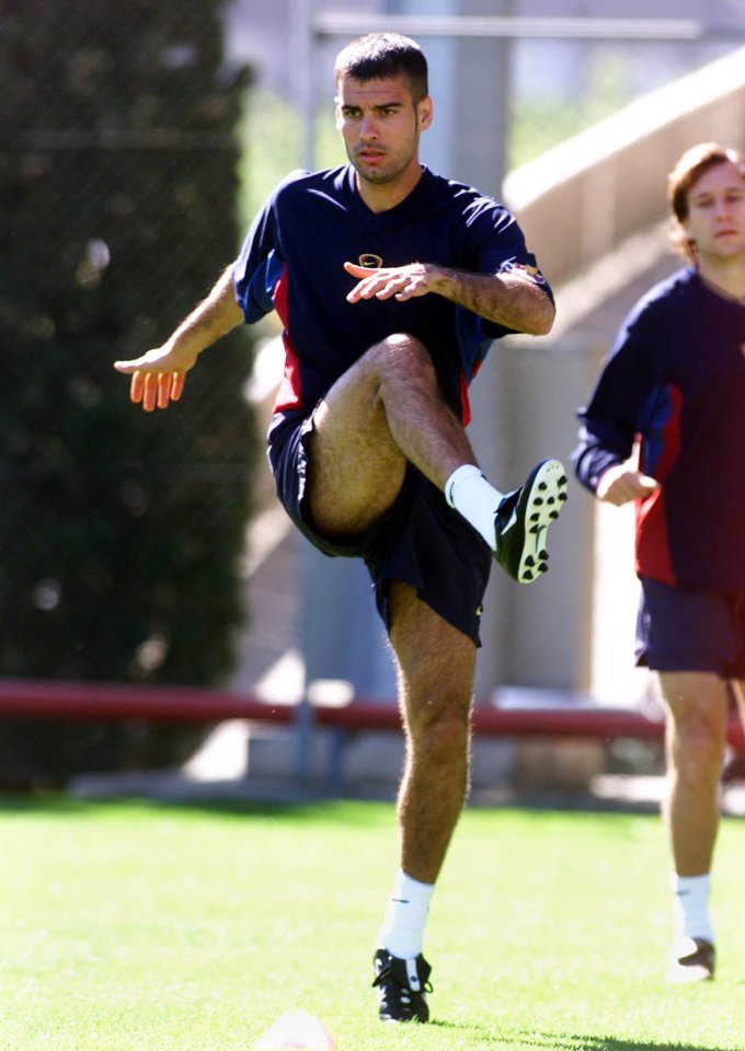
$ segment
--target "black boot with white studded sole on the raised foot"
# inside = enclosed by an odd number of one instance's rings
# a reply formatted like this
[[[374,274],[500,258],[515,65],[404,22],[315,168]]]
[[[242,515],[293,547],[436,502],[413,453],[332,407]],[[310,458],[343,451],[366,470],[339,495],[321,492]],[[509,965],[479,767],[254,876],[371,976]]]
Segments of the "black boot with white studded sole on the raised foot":
[[[542,460],[500,504],[494,557],[513,580],[529,584],[548,569],[546,532],[565,500],[566,472],[558,460]]]

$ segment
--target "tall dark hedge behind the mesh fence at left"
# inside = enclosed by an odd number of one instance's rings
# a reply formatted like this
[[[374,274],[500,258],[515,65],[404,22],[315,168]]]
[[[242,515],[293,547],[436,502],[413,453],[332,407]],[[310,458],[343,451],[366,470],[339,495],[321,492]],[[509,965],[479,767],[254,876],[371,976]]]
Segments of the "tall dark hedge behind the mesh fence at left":
[[[0,8],[0,674],[209,684],[232,665],[259,453],[247,336],[165,414],[131,406],[112,367],[237,251],[245,74],[220,8]],[[76,727],[66,748],[61,726],[1,729],[15,765],[64,764],[72,739],[89,769],[127,737],[127,761],[157,752],[141,728]]]

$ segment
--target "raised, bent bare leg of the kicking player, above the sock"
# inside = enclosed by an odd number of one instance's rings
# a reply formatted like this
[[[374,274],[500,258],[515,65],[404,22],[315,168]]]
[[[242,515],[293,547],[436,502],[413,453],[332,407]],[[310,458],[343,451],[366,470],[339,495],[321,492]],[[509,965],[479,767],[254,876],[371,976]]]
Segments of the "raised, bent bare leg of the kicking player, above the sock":
[[[419,339],[389,336],[328,392],[310,437],[308,495],[328,536],[363,532],[393,504],[406,461],[438,485],[475,463]]]

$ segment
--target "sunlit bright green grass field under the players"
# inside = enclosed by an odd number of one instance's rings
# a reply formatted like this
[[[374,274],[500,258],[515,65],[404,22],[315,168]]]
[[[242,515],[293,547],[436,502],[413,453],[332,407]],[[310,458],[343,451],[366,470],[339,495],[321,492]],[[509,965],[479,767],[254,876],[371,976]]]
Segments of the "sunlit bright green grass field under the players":
[[[340,1051],[745,1048],[745,824],[725,820],[720,974],[662,981],[650,816],[467,810],[425,946],[433,1024],[369,988],[393,810],[0,798],[2,1051],[250,1051],[284,1012]]]

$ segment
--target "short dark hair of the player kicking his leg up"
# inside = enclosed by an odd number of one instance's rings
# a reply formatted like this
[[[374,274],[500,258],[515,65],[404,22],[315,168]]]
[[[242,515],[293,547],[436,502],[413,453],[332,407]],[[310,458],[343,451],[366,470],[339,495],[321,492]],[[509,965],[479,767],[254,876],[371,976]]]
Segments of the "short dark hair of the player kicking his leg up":
[[[414,103],[429,94],[427,60],[415,41],[399,33],[368,33],[352,41],[336,56],[334,80],[385,80],[401,73],[409,81]]]

